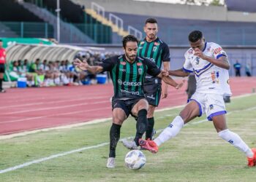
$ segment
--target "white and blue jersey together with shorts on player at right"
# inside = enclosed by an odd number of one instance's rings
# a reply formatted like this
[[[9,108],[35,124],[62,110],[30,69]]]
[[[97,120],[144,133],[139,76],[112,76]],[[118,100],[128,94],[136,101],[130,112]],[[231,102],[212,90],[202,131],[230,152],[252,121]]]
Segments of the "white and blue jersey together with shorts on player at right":
[[[226,114],[223,95],[231,95],[229,74],[226,69],[194,55],[190,48],[185,53],[184,71],[194,72],[197,81],[197,89],[191,100],[195,100],[199,106],[201,116],[206,114],[208,120],[214,116]],[[214,42],[206,42],[203,54],[218,59],[227,54],[222,47]],[[221,61],[221,60],[219,60]]]

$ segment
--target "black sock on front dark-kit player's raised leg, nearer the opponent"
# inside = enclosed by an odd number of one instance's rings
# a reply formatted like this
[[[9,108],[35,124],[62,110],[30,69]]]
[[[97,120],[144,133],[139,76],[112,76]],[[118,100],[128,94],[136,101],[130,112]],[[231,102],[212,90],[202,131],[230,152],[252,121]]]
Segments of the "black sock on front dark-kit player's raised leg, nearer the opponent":
[[[138,112],[138,120],[136,124],[136,136],[135,136],[135,143],[139,146],[139,139],[142,138],[144,132],[148,127],[148,119],[147,119],[148,111],[146,109],[141,109]]]

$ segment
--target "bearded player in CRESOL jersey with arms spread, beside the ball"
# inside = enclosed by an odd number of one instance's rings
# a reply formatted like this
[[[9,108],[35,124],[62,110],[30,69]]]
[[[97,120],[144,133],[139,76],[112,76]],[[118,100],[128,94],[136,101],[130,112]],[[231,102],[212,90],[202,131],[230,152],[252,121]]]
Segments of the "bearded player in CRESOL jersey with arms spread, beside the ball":
[[[123,41],[124,55],[114,56],[103,60],[99,66],[89,66],[86,61],[75,60],[75,66],[87,70],[93,74],[109,71],[113,81],[114,95],[112,98],[113,124],[110,128],[110,153],[107,162],[108,168],[115,167],[116,145],[120,138],[121,124],[129,114],[137,119],[136,135],[134,143],[139,146],[139,141],[148,125],[148,102],[143,92],[143,84],[146,74],[162,78],[167,84],[182,87],[183,82],[177,84],[169,76],[163,76],[163,72],[146,58],[137,56],[138,39],[135,36],[125,36]]]

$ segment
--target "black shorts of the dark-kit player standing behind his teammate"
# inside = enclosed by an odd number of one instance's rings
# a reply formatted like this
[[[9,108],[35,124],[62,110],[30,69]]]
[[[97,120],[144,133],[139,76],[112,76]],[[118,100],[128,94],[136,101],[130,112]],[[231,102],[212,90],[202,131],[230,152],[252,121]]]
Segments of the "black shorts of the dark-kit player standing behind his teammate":
[[[162,84],[144,85],[145,98],[149,105],[158,106],[161,98]]]

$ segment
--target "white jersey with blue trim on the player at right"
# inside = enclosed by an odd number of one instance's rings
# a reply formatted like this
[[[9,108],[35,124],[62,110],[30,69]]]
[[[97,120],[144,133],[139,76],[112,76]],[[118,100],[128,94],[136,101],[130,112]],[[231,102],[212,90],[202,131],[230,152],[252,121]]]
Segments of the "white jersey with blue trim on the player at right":
[[[194,50],[190,48],[185,53],[184,71],[194,72],[197,81],[197,92],[215,93],[220,95],[231,95],[229,86],[228,71],[214,66],[214,64],[194,55]],[[206,42],[203,54],[211,58],[218,59],[227,54],[219,44]]]

